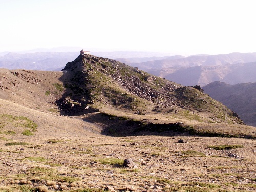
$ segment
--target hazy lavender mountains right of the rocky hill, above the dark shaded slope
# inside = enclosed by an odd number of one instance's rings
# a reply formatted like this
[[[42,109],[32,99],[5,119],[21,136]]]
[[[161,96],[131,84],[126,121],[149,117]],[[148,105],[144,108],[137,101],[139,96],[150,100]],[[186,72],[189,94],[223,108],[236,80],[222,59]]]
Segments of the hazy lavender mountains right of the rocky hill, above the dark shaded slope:
[[[148,58],[146,62],[133,62],[134,58],[116,60],[148,73],[185,86],[204,86],[214,81],[229,84],[256,82],[256,53],[230,53],[223,55],[176,55],[167,58]],[[146,60],[144,58],[144,60]]]

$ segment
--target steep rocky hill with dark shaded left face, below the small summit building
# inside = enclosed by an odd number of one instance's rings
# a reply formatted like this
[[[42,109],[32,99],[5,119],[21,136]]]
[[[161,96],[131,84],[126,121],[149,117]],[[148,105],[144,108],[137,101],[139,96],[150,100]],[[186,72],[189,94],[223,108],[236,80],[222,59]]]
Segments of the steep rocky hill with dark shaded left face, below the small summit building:
[[[165,114],[198,122],[241,123],[232,111],[197,89],[112,59],[79,56],[63,71],[69,79],[63,79],[66,93],[57,103],[65,114],[112,110],[127,116]]]

